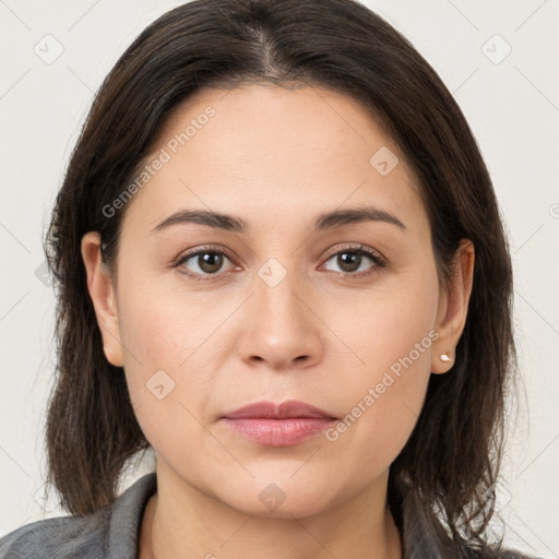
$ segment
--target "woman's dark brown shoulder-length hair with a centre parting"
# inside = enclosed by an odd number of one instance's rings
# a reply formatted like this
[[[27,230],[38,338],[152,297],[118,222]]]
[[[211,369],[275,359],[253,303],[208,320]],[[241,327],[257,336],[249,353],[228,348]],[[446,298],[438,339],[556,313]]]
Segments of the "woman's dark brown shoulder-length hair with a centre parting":
[[[455,364],[431,374],[425,405],[392,463],[389,506],[405,557],[497,557],[486,528],[514,379],[512,270],[491,180],[469,127],[435,70],[354,0],[195,0],[151,24],[98,90],[45,239],[58,308],[57,378],[46,424],[48,479],[73,514],[117,497],[122,468],[150,448],[120,368],[105,358],[80,252],[100,233],[115,264],[117,199],[162,123],[202,88],[318,85],[357,99],[414,171],[441,286],[461,239],[475,247],[473,292]],[[450,537],[449,537],[450,536]]]

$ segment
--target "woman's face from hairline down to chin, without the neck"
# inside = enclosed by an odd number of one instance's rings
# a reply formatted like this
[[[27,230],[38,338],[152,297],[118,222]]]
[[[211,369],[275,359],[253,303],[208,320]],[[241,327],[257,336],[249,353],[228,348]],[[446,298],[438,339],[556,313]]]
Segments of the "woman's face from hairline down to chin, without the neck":
[[[157,467],[260,515],[385,487],[461,325],[444,322],[403,154],[360,105],[318,87],[199,92],[158,142],[134,197],[111,205],[128,204],[117,282],[106,307],[94,296]],[[287,400],[338,421],[296,439],[224,419]]]

